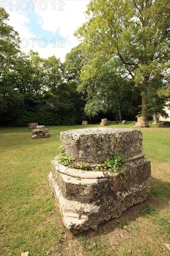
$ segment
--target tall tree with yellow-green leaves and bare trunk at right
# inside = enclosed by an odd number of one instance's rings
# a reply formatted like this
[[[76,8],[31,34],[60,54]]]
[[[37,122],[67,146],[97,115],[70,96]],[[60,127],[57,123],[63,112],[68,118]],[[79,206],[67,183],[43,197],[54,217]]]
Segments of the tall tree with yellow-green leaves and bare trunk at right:
[[[76,35],[83,37],[91,63],[118,58],[140,88],[146,118],[148,87],[170,54],[170,1],[91,0],[86,13],[88,21]]]

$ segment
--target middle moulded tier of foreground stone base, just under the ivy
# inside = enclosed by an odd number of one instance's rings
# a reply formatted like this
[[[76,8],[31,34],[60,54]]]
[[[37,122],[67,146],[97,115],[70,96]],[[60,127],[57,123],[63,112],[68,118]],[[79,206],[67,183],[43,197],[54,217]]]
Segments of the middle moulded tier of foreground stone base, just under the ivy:
[[[113,175],[108,171],[93,172],[95,176],[89,175],[89,171],[63,167],[57,157],[52,160],[52,175],[55,176],[62,194],[66,199],[79,202],[96,201],[103,196],[110,196],[113,192],[140,184],[150,177],[150,161],[147,159],[129,161],[123,168],[126,173],[124,179],[120,173]]]

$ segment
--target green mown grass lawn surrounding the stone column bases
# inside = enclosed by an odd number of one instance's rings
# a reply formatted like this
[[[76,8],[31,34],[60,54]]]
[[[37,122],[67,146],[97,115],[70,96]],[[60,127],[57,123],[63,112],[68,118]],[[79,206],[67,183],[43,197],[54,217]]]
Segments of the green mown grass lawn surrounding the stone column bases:
[[[99,126],[51,126],[51,138],[31,140],[28,128],[1,128],[0,255],[169,255],[170,128],[141,128],[151,160],[150,195],[96,231],[72,235],[63,226],[49,187],[50,160],[58,155],[59,132]],[[133,128],[132,124],[111,125]]]

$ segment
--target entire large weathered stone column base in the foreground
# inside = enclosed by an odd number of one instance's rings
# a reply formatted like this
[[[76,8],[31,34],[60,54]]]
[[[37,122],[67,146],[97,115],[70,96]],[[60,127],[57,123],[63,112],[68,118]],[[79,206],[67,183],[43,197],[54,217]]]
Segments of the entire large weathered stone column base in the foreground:
[[[64,225],[73,232],[97,229],[117,218],[132,205],[147,199],[150,191],[150,161],[142,154],[142,133],[137,129],[92,128],[60,133],[65,153],[74,158],[68,167],[52,159],[48,175],[59,203]],[[113,151],[124,154],[125,175],[109,170],[78,168],[77,163],[98,166]]]

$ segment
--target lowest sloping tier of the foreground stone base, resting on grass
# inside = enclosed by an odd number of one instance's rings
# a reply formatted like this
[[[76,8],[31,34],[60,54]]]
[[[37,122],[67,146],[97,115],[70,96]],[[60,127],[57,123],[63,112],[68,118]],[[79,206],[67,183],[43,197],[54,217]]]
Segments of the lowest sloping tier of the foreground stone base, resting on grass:
[[[53,193],[59,203],[63,222],[72,232],[95,230],[98,224],[111,218],[118,218],[127,208],[146,200],[150,191],[149,180],[147,179],[127,189],[120,189],[117,192],[110,191],[110,195],[104,194],[92,202],[80,202],[65,198],[52,172],[48,177]]]

